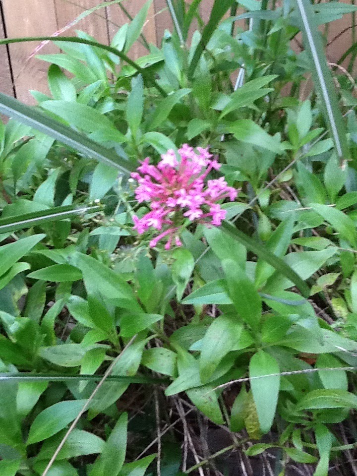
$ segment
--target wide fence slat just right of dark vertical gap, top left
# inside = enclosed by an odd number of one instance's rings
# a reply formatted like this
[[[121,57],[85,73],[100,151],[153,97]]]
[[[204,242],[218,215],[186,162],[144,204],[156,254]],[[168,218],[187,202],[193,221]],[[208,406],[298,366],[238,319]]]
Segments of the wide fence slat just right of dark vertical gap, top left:
[[[6,31],[9,38],[52,35],[57,30],[53,0],[2,0]],[[47,92],[48,64],[35,58],[27,61],[37,44],[14,43],[10,45],[16,95],[20,101],[34,104],[29,90]],[[47,45],[43,52],[55,51]]]

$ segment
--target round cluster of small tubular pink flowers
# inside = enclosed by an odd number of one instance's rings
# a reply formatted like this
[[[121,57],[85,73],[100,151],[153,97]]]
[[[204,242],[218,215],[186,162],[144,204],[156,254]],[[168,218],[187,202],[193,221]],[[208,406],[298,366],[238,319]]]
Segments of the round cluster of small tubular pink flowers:
[[[165,248],[169,249],[173,240],[181,246],[179,230],[185,219],[207,226],[220,226],[226,217],[226,210],[217,203],[225,198],[231,201],[238,192],[229,187],[223,177],[205,182],[212,169],[221,165],[209,153],[208,148],[192,147],[184,144],[179,149],[179,160],[173,150],[161,156],[157,166],[149,164],[147,158],[141,162],[138,172],[131,174],[137,180],[135,196],[139,203],[146,202],[151,211],[142,218],[133,216],[134,229],[142,234],[154,228],[161,233],[150,241],[154,247],[168,238]]]

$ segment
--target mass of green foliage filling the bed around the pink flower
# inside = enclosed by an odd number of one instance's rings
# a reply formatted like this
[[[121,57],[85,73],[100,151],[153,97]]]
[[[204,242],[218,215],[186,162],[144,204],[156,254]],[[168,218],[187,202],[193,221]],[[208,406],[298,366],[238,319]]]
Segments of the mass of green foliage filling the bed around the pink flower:
[[[168,1],[159,47],[141,34],[150,2],[110,47],[57,38],[39,56],[51,96],[0,95],[1,475],[193,471],[179,432],[146,449],[182,402],[231,430],[227,451],[276,448],[275,474],[327,475],[354,448],[338,424],[357,410],[357,103],[317,26],[356,8],[216,0],[204,24],[199,3]],[[232,202],[217,197],[222,226],[181,213],[165,249],[130,173],[185,143],[217,156],[204,173]]]

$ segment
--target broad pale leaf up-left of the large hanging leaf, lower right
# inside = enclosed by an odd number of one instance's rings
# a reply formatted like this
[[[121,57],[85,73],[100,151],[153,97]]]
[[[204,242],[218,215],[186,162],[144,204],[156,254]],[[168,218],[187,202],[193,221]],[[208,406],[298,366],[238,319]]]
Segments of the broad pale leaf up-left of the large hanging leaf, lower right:
[[[214,319],[202,340],[199,359],[202,383],[210,380],[222,358],[236,348],[241,332],[237,318],[221,315]]]

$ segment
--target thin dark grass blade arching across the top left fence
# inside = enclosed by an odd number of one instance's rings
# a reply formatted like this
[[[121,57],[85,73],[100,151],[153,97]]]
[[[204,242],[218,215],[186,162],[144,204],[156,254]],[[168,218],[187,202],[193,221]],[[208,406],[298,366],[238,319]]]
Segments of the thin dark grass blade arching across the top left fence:
[[[117,48],[113,48],[112,46],[108,45],[103,45],[102,43],[97,43],[96,41],[87,40],[85,38],[77,38],[76,36],[32,36],[25,38],[5,38],[3,40],[0,40],[0,45],[9,45],[11,43],[25,43],[29,41],[66,41],[69,43],[81,43],[82,45],[94,46],[96,48],[101,48],[102,50],[109,51],[110,53],[113,53],[113,55],[118,56],[121,60],[125,61],[127,64],[135,68],[137,72],[141,73],[146,79],[146,81],[150,83],[154,88],[156,88],[162,96],[167,96],[166,91],[160,86],[160,84],[158,84],[158,82],[151,74],[147,73],[145,68],[139,66],[137,63],[135,63],[135,61],[130,60],[130,58],[125,55],[125,53],[119,51]]]

